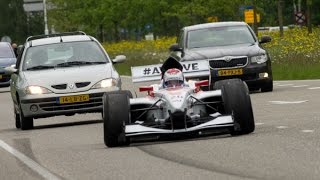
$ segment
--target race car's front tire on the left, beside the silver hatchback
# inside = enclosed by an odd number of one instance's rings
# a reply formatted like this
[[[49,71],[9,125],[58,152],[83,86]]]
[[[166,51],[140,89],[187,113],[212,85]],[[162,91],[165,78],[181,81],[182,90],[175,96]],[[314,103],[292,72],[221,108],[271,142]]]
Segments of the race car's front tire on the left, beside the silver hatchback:
[[[129,145],[125,137],[125,125],[130,123],[131,93],[128,92],[114,91],[103,95],[103,133],[108,147]]]

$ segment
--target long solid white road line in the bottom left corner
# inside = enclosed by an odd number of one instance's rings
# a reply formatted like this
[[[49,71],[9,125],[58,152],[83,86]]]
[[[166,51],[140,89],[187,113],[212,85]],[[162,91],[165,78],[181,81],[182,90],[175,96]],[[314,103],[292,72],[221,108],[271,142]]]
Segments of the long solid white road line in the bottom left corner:
[[[14,149],[13,147],[9,146],[7,143],[2,141],[0,139],[0,147],[2,147],[4,150],[8,151],[10,154],[15,156],[17,159],[22,161],[25,165],[27,165],[29,168],[37,172],[39,175],[41,175],[44,179],[51,179],[51,180],[60,180],[59,177],[55,176],[51,172],[49,172],[47,169],[42,167],[37,162],[33,161],[26,155],[22,154],[18,150]]]

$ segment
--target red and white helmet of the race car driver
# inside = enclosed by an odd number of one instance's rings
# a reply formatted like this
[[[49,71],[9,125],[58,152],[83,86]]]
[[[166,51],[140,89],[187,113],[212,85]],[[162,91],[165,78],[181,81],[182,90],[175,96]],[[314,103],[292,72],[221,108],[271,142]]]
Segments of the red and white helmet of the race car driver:
[[[184,84],[184,77],[179,69],[168,69],[163,75],[163,86],[165,88],[181,87]]]

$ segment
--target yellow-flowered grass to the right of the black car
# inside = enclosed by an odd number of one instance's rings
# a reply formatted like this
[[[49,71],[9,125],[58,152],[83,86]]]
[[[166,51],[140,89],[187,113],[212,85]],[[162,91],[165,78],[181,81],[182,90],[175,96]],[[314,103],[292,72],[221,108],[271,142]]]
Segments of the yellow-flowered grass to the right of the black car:
[[[272,37],[264,47],[272,57],[274,79],[320,79],[320,28],[308,34],[305,27],[266,33]],[[262,34],[259,34],[261,36]]]

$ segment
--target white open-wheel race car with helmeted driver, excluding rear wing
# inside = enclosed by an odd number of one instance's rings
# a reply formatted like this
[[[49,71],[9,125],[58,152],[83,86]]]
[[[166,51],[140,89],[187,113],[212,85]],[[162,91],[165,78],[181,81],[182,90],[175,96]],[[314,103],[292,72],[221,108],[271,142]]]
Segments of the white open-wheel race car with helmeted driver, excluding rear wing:
[[[129,145],[143,137],[202,135],[226,130],[231,135],[254,131],[249,90],[240,79],[188,81],[183,66],[169,58],[161,67],[161,82],[140,87],[148,95],[133,98],[130,91],[103,96],[104,142],[108,147]],[[133,77],[134,78],[134,77]],[[148,78],[147,78],[148,79]]]

